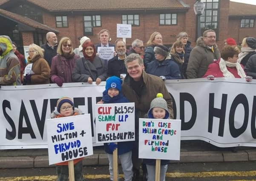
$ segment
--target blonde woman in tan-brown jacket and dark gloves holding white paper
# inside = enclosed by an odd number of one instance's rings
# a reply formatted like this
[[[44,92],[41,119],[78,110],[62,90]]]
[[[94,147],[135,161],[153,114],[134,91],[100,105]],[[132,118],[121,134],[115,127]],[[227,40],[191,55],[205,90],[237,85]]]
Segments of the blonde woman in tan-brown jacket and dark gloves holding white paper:
[[[38,45],[29,45],[28,64],[24,70],[23,85],[49,84],[50,67],[43,58],[43,49]]]

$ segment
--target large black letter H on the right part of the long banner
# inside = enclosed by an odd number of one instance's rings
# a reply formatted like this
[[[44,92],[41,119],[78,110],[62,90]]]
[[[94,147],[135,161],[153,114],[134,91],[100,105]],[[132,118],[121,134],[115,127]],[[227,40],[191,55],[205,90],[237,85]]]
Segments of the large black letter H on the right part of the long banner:
[[[221,99],[221,109],[214,107],[214,93],[210,93],[209,95],[209,125],[208,132],[212,133],[213,131],[213,117],[219,118],[219,134],[218,136],[222,136],[224,134],[224,125],[225,125],[225,117],[226,117],[226,109],[227,109],[227,94],[222,94]]]

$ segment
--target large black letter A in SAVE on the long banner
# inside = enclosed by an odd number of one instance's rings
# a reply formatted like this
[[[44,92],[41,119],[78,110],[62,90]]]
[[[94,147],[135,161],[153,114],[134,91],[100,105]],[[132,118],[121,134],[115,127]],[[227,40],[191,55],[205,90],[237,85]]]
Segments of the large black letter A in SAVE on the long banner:
[[[23,118],[26,122],[27,127],[22,127],[23,126]],[[18,129],[18,139],[22,139],[22,134],[30,134],[32,139],[35,139],[35,133],[32,129],[30,120],[29,120],[29,115],[26,111],[26,107],[23,103],[23,100],[21,100],[21,106],[20,106],[20,117],[19,117],[19,129]]]

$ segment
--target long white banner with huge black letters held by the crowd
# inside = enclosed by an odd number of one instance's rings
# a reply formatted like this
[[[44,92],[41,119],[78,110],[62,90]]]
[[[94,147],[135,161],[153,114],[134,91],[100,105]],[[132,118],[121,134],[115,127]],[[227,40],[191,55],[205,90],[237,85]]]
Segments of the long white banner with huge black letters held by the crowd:
[[[219,147],[256,147],[256,80],[200,78],[165,84],[173,97],[174,119],[181,120],[181,139],[200,139]],[[105,82],[1,86],[0,149],[47,148],[45,120],[57,100],[73,98],[75,107],[94,120],[95,104],[104,89]],[[91,126],[95,130],[94,123]]]

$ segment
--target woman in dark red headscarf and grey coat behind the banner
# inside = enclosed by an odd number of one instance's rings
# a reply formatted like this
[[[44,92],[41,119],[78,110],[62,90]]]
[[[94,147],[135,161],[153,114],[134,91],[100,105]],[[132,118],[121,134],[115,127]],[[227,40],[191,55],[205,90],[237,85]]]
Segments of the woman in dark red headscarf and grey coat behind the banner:
[[[107,60],[96,55],[95,46],[92,42],[83,44],[83,57],[75,62],[75,69],[72,73],[73,82],[96,82],[97,85],[107,78]]]

